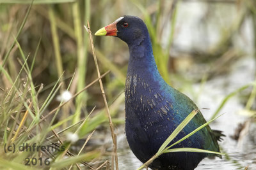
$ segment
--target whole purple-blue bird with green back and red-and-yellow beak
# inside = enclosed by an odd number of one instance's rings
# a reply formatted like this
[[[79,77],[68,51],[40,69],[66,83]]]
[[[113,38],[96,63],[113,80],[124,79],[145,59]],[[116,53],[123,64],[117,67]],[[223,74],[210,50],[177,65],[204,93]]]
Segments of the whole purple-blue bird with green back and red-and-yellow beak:
[[[189,97],[170,87],[159,74],[147,26],[140,18],[120,17],[106,26],[105,31],[106,34],[111,32],[111,36],[117,36],[129,46],[130,59],[125,82],[125,132],[132,152],[144,163],[197,107]],[[104,29],[100,29],[95,35],[97,34],[106,35]],[[199,112],[169,145],[205,122]],[[209,125],[172,148],[182,147],[220,152],[217,137]],[[214,155],[193,152],[164,153],[149,167],[195,169],[207,156]]]

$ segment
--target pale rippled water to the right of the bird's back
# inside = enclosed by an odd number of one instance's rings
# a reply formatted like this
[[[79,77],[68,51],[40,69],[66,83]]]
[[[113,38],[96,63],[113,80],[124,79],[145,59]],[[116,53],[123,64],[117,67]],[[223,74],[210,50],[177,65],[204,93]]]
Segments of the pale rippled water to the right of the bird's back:
[[[253,73],[255,73],[255,61],[252,57],[245,57],[240,59],[234,64],[231,69],[233,70],[228,76],[219,77],[207,82],[202,92],[202,98],[199,100],[199,106],[207,106],[211,110],[204,110],[204,117],[209,120],[212,111],[215,111],[219,106],[222,99],[230,92],[238,89],[246,83],[253,81]],[[214,82],[212,82],[214,81]],[[225,85],[225,86],[224,86]],[[211,90],[209,90],[211,89]],[[249,132],[239,140],[234,141],[230,136],[234,135],[234,132],[239,125],[248,117],[242,115],[243,104],[239,96],[234,96],[230,101],[225,104],[221,113],[225,113],[222,117],[218,118],[216,122],[211,124],[212,129],[219,129],[224,132],[226,137],[220,143],[223,152],[229,153],[230,160],[225,157],[223,159],[216,158],[215,160],[204,159],[198,167],[199,169],[244,169],[249,166],[249,169],[256,169],[256,145],[255,141],[250,139],[250,136],[255,134],[255,126],[252,124],[249,128]]]

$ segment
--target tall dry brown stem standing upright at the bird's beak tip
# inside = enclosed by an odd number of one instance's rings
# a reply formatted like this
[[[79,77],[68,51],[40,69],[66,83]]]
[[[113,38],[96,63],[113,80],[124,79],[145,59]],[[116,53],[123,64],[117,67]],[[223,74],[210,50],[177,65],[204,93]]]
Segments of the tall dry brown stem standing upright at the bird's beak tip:
[[[87,26],[88,27],[86,28],[86,26],[84,25],[84,28],[86,29],[86,31],[89,34],[89,38],[90,38],[90,42],[91,42],[91,46],[92,46],[93,59],[94,59],[95,66],[96,66],[96,69],[97,69],[98,77],[100,78],[100,70],[99,70],[99,66],[98,66],[98,62],[97,62],[95,48],[94,48],[94,45],[93,45],[92,31],[90,29],[90,24],[89,24],[88,20],[87,20]],[[114,153],[115,154],[115,160],[117,160],[118,157],[117,157],[117,152],[116,152],[117,146],[116,146],[116,141],[115,141],[115,132],[114,132],[114,127],[113,127],[113,123],[112,123],[112,120],[111,120],[111,115],[110,115],[109,108],[108,108],[108,102],[107,102],[107,99],[106,99],[106,95],[105,95],[105,92],[104,92],[104,88],[103,88],[103,85],[102,85],[101,78],[99,79],[99,83],[100,83],[100,90],[102,92],[102,97],[103,97],[103,100],[104,100],[105,108],[106,108],[106,111],[107,111],[107,114],[108,114],[109,127],[110,127],[110,131],[111,131],[111,136],[112,136],[112,141],[113,141],[113,148],[114,148],[114,152],[115,152]],[[114,162],[112,161],[111,162],[112,167],[113,167],[113,164],[114,164]],[[116,166],[116,170],[118,170],[118,165]]]

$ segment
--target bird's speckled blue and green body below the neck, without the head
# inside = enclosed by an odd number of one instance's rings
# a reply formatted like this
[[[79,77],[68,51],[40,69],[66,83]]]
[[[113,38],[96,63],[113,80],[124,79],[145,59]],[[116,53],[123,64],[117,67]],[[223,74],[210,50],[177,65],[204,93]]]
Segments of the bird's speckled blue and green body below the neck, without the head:
[[[174,129],[197,107],[189,97],[154,76],[127,74],[125,87],[125,131],[132,152],[146,162],[172,134]],[[183,138],[206,121],[198,113],[173,139]],[[170,143],[170,145],[172,144]],[[172,148],[201,148],[219,152],[216,138],[209,126]],[[154,169],[194,169],[206,153],[164,153],[150,165]],[[185,163],[186,162],[186,163]]]

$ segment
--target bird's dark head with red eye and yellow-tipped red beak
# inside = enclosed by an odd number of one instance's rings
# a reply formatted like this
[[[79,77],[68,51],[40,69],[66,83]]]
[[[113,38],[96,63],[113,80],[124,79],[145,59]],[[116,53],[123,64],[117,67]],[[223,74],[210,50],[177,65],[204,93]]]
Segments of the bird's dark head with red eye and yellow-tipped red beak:
[[[115,20],[112,24],[99,29],[95,36],[117,36],[125,43],[140,45],[148,35],[147,26],[139,17],[125,15]]]

